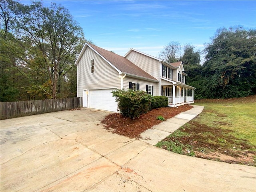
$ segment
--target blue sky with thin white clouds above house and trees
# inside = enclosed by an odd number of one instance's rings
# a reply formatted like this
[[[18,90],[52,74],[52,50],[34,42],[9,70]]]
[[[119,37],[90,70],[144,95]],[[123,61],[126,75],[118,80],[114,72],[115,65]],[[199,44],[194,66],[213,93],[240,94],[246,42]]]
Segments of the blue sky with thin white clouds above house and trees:
[[[22,1],[21,1],[22,2]],[[25,3],[27,1],[23,1]],[[134,48],[158,56],[169,42],[202,50],[221,27],[256,28],[256,1],[42,0],[67,8],[86,39],[124,56]]]

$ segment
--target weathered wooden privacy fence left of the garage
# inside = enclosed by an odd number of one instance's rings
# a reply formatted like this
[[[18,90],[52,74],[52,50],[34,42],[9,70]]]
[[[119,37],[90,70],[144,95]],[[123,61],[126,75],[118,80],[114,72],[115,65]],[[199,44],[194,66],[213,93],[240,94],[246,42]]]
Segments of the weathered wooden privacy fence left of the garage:
[[[1,102],[1,120],[82,107],[82,97]]]

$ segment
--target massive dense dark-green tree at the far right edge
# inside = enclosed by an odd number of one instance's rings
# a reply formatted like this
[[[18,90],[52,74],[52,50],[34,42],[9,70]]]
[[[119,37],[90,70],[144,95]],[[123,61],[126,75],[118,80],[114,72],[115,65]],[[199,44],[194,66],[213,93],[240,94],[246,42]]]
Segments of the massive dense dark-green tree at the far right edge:
[[[241,26],[220,28],[204,51],[208,98],[256,93],[256,30]]]

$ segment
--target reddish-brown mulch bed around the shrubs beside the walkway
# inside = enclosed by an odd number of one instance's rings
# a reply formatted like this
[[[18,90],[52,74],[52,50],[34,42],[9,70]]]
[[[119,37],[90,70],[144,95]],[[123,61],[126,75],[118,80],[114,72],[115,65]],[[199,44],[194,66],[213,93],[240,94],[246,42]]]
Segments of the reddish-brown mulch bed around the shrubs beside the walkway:
[[[178,108],[157,108],[146,114],[142,114],[135,120],[123,117],[120,113],[114,113],[106,116],[102,120],[102,123],[105,124],[104,126],[107,130],[110,130],[113,133],[127,136],[129,138],[140,138],[140,134],[142,132],[162,122],[156,119],[157,116],[163,116],[165,119],[169,119],[191,108],[193,107],[190,105],[182,105]]]

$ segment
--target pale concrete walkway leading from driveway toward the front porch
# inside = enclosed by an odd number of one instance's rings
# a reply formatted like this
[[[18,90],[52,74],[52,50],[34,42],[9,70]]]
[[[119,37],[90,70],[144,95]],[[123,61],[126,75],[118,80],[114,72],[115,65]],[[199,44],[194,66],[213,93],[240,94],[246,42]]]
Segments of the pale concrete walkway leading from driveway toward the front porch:
[[[163,140],[171,133],[176,131],[182,125],[186,124],[193,118],[195,118],[198,114],[200,114],[204,109],[204,106],[193,105],[193,108],[187,110],[186,112],[181,112],[180,114],[170,118],[156,126],[152,129],[148,129],[140,136],[142,137],[140,140],[155,145],[159,141]]]

